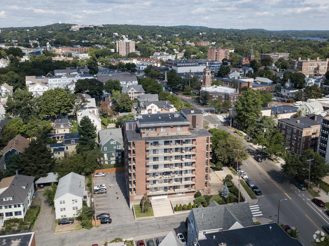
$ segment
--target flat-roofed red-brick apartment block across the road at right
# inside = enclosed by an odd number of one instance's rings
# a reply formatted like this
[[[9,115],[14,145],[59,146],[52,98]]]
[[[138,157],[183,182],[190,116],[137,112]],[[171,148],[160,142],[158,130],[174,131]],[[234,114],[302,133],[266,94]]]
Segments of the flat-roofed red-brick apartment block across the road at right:
[[[302,118],[279,119],[277,129],[286,138],[287,151],[300,156],[309,148],[316,150],[321,118],[310,114]]]

